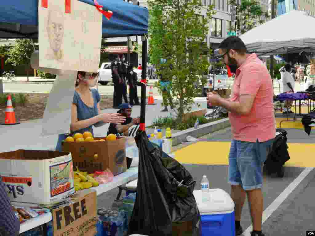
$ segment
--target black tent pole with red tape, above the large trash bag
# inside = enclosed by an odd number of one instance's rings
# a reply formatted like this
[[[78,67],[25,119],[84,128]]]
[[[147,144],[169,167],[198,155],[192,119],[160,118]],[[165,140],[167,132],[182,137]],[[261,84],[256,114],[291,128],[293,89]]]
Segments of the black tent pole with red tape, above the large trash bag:
[[[141,80],[146,81],[146,62],[147,62],[147,36],[141,36],[142,41],[142,72]],[[145,131],[146,121],[146,82],[141,83],[141,107],[140,107],[140,130]]]

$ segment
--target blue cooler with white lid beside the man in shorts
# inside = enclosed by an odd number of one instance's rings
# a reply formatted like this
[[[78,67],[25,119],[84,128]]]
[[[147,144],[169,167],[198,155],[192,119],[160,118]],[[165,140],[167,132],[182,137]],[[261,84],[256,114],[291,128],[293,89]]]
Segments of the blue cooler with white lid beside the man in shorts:
[[[202,236],[235,236],[234,202],[220,188],[210,189],[210,200],[201,201],[201,190],[193,192],[201,215]]]

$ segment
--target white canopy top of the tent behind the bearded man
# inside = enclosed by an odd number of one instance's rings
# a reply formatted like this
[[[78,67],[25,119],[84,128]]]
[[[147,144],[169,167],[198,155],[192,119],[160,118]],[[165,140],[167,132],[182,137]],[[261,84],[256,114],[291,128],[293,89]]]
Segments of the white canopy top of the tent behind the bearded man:
[[[303,25],[305,28],[303,28]],[[250,53],[258,56],[315,51],[315,18],[292,10],[241,35]],[[306,28],[306,26],[310,26]]]

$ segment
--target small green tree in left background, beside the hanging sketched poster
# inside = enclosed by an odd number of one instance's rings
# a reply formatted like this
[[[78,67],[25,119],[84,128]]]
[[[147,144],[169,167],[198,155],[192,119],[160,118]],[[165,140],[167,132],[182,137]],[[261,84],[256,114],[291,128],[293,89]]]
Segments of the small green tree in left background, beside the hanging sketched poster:
[[[27,65],[31,66],[31,55],[34,52],[34,45],[29,39],[16,39],[15,44],[8,52],[8,59],[5,63],[13,66]],[[27,81],[29,71],[27,70]]]

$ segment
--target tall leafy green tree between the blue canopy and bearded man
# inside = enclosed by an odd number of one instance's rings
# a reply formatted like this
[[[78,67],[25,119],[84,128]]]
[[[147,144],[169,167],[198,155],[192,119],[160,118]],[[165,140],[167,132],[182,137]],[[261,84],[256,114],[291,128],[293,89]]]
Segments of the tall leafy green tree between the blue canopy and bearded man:
[[[173,105],[182,121],[192,109],[193,98],[201,92],[196,83],[201,80],[204,84],[206,80],[201,75],[208,70],[210,49],[204,41],[214,14],[213,6],[206,8],[200,0],[148,0],[148,5],[150,62],[156,65],[158,74],[171,81]],[[203,8],[206,8],[204,17]],[[167,59],[166,64],[161,65],[161,59]]]

